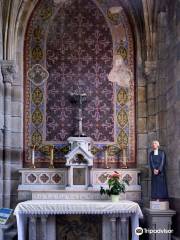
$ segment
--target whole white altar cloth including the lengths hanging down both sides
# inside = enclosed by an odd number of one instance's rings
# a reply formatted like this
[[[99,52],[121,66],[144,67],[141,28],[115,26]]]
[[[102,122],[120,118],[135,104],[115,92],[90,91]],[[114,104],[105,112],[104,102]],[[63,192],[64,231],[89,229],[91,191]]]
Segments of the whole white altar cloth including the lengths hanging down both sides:
[[[111,202],[105,200],[30,200],[19,203],[14,211],[17,218],[18,240],[26,240],[27,216],[61,214],[100,214],[131,217],[132,240],[138,240],[135,229],[139,226],[142,211],[132,201]]]

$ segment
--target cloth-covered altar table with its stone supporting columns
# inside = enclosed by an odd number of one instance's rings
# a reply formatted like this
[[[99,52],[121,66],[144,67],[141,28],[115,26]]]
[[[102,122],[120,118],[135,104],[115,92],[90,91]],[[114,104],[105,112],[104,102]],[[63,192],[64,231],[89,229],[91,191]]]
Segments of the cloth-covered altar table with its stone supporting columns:
[[[14,214],[17,218],[18,240],[26,240],[28,219],[30,225],[29,240],[38,239],[36,229],[36,218],[38,217],[41,218],[41,239],[55,240],[55,215],[62,214],[103,215],[103,240],[109,240],[105,233],[108,226],[111,226],[111,240],[127,240],[127,225],[130,218],[132,240],[138,240],[139,237],[135,235],[135,228],[139,226],[139,218],[143,216],[137,203],[126,200],[117,203],[105,200],[30,200],[19,203]]]

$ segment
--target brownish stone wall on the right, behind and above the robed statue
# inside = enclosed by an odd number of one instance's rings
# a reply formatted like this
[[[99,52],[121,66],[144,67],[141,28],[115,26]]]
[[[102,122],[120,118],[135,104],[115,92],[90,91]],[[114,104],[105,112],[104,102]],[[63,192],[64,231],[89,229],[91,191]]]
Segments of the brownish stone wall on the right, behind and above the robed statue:
[[[156,44],[153,48],[156,57],[154,62],[146,62],[145,67],[147,145],[150,150],[151,141],[158,139],[161,149],[166,152],[170,207],[177,211],[173,229],[174,234],[179,237],[180,230],[177,226],[180,223],[180,2],[171,1],[171,5],[162,9],[157,15],[155,25]]]

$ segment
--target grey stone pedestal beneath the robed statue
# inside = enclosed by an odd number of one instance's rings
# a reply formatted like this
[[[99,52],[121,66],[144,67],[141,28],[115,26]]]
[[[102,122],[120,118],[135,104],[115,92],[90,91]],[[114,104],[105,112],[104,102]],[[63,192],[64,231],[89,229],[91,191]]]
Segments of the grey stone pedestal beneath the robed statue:
[[[174,210],[153,210],[144,209],[145,219],[147,220],[144,233],[148,234],[149,240],[169,240],[173,233],[171,228]],[[148,232],[149,231],[149,232]]]

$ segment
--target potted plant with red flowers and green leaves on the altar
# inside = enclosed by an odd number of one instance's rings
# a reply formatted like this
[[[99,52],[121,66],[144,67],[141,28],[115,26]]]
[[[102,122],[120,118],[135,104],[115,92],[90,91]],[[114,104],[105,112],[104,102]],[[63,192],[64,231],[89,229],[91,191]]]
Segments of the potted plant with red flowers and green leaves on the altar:
[[[128,179],[120,179],[120,174],[114,171],[111,175],[107,177],[109,189],[104,189],[101,187],[100,194],[107,194],[108,196],[111,195],[119,195],[119,193],[125,193],[126,184],[129,185]]]

